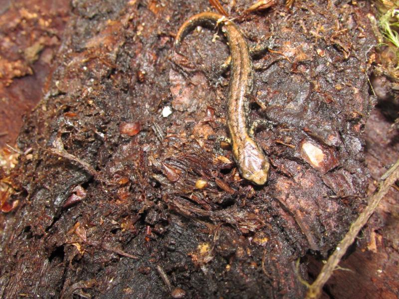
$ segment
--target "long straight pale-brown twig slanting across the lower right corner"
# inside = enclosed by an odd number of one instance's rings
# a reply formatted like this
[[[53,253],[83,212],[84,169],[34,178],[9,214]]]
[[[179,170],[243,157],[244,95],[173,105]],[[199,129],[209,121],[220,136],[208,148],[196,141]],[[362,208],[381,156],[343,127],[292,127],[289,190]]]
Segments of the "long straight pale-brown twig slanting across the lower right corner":
[[[308,293],[306,294],[306,299],[319,298],[321,295],[322,288],[324,284],[329,280],[334,270],[337,269],[338,263],[344,256],[348,247],[352,245],[359,231],[369,220],[370,216],[376,210],[381,199],[387,194],[392,184],[399,178],[399,159],[398,161],[384,174],[381,178],[380,183],[376,191],[368,197],[369,204],[365,210],[359,215],[354,223],[352,223],[349,228],[348,233],[345,235],[344,239],[338,244],[334,253],[328,258],[327,263],[323,266],[319,276],[314,281],[314,283],[309,287]]]

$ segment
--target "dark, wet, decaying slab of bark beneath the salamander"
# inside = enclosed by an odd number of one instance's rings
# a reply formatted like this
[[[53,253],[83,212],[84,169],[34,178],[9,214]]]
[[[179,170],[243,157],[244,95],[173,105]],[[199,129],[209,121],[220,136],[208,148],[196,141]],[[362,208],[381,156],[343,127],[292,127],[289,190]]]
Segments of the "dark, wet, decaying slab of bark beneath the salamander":
[[[226,135],[223,39],[193,32],[172,62],[174,32],[207,1],[71,5],[18,138],[32,149],[7,178],[18,205],[2,216],[1,297],[301,298],[296,260],[325,258],[365,204],[369,2],[279,2],[237,20],[272,50],[251,111],[277,123],[256,135],[273,165],[261,188],[205,138]]]

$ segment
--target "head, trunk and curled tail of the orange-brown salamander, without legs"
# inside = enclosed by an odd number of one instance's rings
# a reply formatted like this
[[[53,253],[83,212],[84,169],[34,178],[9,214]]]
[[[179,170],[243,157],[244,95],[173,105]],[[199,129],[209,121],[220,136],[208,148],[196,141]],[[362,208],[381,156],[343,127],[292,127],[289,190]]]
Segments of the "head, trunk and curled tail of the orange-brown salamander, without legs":
[[[227,126],[235,162],[242,177],[257,185],[267,181],[270,164],[262,149],[248,134],[249,96],[252,93],[253,66],[248,45],[237,26],[214,12],[202,12],[190,17],[179,29],[175,51],[184,37],[198,25],[221,25],[227,37],[231,56],[231,76],[228,88]]]

